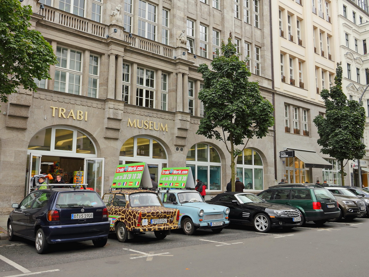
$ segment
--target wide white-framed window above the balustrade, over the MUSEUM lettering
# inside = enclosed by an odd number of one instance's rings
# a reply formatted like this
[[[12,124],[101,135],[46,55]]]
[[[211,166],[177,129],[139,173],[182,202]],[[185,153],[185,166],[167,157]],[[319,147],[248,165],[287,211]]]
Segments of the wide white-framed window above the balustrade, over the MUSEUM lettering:
[[[138,35],[149,40],[156,38],[156,6],[138,0]]]

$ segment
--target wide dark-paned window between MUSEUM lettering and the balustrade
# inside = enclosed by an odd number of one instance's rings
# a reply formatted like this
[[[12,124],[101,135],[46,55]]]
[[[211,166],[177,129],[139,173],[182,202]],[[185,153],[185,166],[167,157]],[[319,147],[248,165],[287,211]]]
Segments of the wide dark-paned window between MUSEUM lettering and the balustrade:
[[[154,108],[155,72],[146,68],[137,68],[136,105]]]

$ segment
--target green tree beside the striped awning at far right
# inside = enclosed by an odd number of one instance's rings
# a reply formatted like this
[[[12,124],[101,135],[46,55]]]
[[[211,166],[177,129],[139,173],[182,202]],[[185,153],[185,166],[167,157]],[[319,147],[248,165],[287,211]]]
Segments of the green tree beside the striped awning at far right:
[[[325,116],[318,115],[313,122],[318,128],[318,144],[323,154],[339,160],[342,185],[345,184],[344,160],[361,159],[365,144],[361,142],[365,125],[365,109],[362,103],[347,100],[342,92],[342,67],[337,63],[334,86],[320,93],[324,100]],[[346,162],[347,163],[347,162]]]

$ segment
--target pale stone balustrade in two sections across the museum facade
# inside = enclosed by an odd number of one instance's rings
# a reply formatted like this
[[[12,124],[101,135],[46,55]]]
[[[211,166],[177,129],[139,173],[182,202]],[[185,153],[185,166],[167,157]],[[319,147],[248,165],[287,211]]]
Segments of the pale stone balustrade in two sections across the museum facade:
[[[41,10],[41,15],[45,16],[44,19],[46,21],[66,26],[74,30],[82,31],[87,34],[96,35],[97,37],[101,38],[105,38],[106,33],[109,31],[107,25],[52,7],[45,7],[43,10]],[[142,37],[128,37],[128,34],[123,35],[123,40],[130,42],[134,48],[162,55],[167,58],[173,58],[173,48],[164,44],[146,40]]]

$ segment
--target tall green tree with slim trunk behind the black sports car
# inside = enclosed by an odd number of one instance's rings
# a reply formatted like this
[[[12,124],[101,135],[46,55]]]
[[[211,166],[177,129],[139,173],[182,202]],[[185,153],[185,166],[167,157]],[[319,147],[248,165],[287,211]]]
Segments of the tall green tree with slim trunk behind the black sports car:
[[[232,34],[227,44],[222,41],[221,55],[213,59],[211,66],[212,70],[201,64],[198,69],[204,79],[199,99],[204,103],[205,116],[200,121],[197,134],[210,139],[215,137],[225,143],[231,156],[234,191],[235,158],[252,137],[266,136],[274,124],[273,106],[261,96],[258,82],[248,81],[251,73],[246,61],[239,60],[236,45],[232,44]],[[235,148],[238,145],[243,145],[242,149]]]

